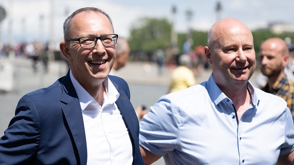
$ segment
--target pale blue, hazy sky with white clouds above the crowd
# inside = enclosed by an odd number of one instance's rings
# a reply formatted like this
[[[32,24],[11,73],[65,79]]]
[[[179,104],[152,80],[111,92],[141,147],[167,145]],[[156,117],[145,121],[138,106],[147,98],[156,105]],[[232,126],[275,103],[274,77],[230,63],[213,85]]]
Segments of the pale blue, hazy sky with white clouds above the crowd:
[[[115,33],[123,37],[130,35],[132,24],[141,17],[167,18],[171,21],[173,6],[177,8],[175,24],[178,32],[187,31],[187,10],[193,13],[190,22],[192,29],[207,31],[216,21],[217,2],[222,4],[221,18],[235,17],[252,30],[264,28],[268,22],[294,24],[293,0],[1,0],[0,5],[7,10],[7,17],[1,23],[0,39],[15,43],[54,38],[59,43],[66,16],[78,8],[88,6],[108,13],[113,20]],[[54,20],[50,19],[51,6],[54,7]],[[43,16],[42,21],[40,15]]]

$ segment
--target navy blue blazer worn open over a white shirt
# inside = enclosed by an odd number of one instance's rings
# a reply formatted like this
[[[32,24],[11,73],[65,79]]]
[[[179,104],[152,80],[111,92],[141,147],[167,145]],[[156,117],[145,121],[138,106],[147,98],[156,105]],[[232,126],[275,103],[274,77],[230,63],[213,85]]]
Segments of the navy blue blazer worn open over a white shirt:
[[[127,82],[108,76],[120,96],[116,105],[129,130],[133,164],[144,164],[139,149],[139,123]],[[86,164],[82,109],[69,78],[24,95],[0,139],[0,164]]]

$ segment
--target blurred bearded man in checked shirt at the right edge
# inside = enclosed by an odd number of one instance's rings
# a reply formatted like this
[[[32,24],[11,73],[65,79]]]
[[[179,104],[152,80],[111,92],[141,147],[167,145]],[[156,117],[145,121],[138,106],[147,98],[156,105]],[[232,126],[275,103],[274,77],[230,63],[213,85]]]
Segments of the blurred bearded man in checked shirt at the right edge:
[[[260,69],[262,74],[268,78],[262,90],[285,99],[294,117],[294,85],[284,73],[288,61],[289,49],[284,40],[269,38],[261,44]]]

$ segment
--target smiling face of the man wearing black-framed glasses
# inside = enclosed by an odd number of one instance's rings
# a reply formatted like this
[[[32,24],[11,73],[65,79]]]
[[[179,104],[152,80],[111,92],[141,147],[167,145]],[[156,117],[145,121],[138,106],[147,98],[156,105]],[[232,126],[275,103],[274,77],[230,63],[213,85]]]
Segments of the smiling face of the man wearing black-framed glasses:
[[[106,34],[113,34],[113,29],[108,18],[102,13],[86,11],[72,18],[71,39]],[[95,86],[108,76],[114,63],[115,45],[104,47],[101,40],[98,40],[95,47],[82,48],[78,41],[71,41],[66,47],[68,53],[65,58],[70,64],[72,74],[84,88]]]

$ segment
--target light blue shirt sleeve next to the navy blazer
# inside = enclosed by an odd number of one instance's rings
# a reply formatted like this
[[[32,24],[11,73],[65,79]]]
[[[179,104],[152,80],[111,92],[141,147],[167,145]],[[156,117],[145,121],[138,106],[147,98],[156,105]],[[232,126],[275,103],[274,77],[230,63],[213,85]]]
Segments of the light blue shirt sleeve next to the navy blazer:
[[[177,145],[181,117],[179,108],[168,97],[161,97],[140,122],[140,145],[163,156]]]

